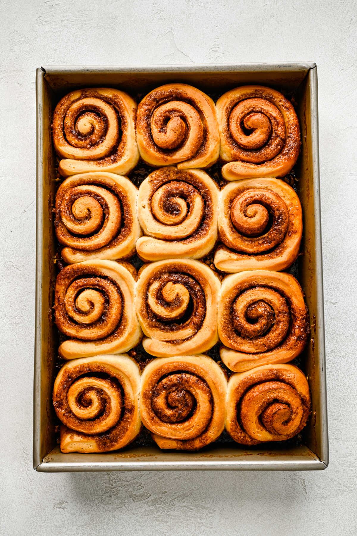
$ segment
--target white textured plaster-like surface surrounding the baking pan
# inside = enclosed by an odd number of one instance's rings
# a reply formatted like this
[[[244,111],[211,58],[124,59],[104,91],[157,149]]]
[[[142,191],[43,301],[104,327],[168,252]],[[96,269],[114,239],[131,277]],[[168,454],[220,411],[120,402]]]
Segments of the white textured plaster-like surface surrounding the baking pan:
[[[356,534],[356,3],[0,5],[3,533]],[[322,472],[36,473],[36,67],[302,60],[318,69],[330,466]]]

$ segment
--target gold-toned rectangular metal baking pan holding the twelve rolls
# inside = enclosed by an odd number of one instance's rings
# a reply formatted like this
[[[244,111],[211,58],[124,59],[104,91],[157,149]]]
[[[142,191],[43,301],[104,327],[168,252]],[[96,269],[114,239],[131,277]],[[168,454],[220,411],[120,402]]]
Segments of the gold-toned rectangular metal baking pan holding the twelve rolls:
[[[52,322],[56,237],[52,219],[56,157],[51,144],[52,111],[64,94],[88,86],[111,86],[146,94],[171,81],[223,94],[245,84],[294,91],[302,137],[296,167],[303,209],[300,284],[309,308],[312,334],[303,355],[312,393],[312,415],[304,445],[277,448],[272,443],[247,449],[212,445],[202,452],[165,452],[153,446],[80,454],[60,452],[56,443],[52,387],[57,373],[57,332]],[[34,368],[33,464],[36,471],[121,470],[317,470],[328,465],[324,315],[322,286],[320,181],[318,168],[317,70],[315,63],[182,65],[146,67],[48,66],[37,69],[37,240]]]

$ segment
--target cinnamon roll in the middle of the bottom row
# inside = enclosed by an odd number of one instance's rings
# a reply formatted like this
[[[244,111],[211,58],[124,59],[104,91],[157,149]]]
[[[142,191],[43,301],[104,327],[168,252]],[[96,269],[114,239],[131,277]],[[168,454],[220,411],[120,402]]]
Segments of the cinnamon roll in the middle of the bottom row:
[[[198,450],[224,429],[227,381],[204,355],[161,358],[143,370],[140,413],[161,449]]]

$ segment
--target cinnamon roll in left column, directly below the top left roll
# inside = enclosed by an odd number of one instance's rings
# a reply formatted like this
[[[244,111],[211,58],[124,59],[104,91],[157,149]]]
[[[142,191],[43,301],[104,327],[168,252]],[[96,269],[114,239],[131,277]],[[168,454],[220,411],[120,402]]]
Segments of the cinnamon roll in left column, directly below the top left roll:
[[[65,245],[66,263],[87,259],[124,259],[135,252],[141,230],[138,190],[113,173],[83,173],[66,178],[56,195],[55,229]]]

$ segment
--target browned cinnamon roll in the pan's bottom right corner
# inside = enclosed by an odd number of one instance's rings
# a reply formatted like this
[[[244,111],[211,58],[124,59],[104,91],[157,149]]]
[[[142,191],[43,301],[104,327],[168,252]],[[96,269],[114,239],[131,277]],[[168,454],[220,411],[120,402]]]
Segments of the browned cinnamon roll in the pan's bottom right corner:
[[[290,439],[306,425],[309,413],[309,386],[298,367],[264,365],[229,379],[226,430],[237,443]]]

